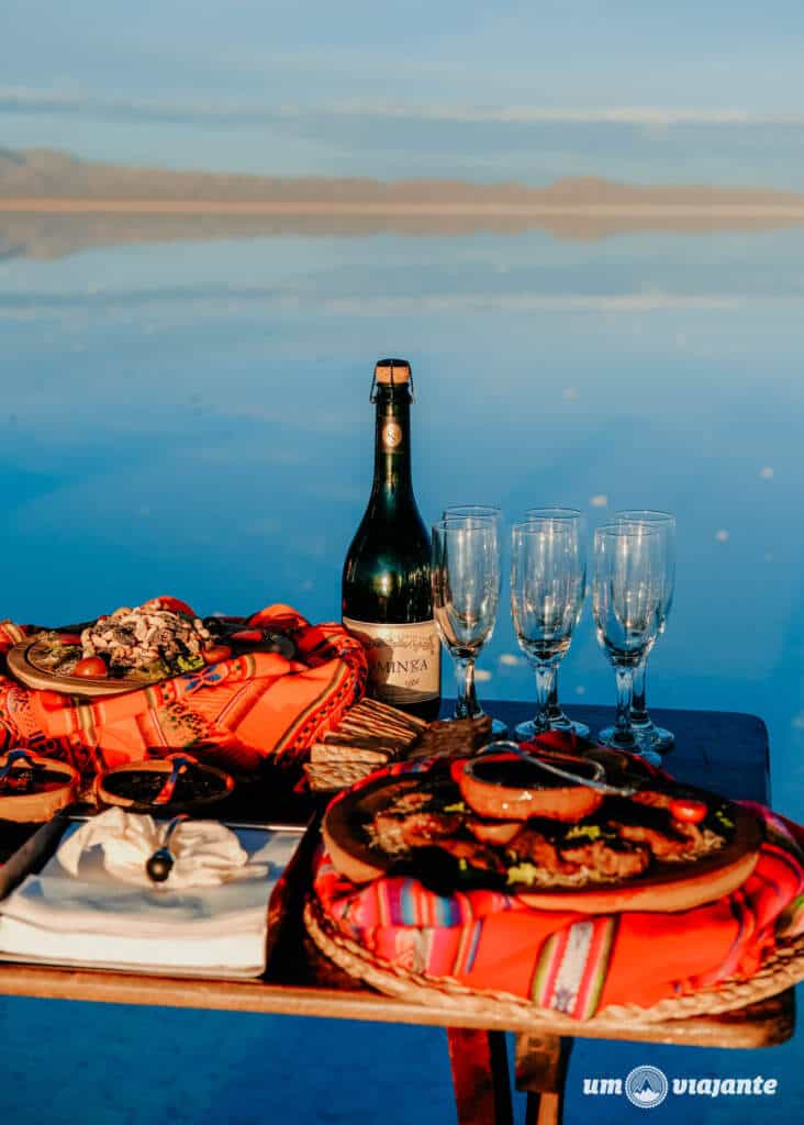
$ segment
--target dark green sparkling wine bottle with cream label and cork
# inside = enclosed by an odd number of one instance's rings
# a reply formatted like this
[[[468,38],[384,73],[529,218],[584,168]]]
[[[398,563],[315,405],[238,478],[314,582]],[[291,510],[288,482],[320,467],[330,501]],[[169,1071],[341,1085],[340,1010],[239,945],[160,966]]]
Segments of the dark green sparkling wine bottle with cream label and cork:
[[[423,719],[441,703],[430,537],[410,479],[410,366],[374,368],[374,479],[343,566],[343,623],[365,647],[369,694]]]

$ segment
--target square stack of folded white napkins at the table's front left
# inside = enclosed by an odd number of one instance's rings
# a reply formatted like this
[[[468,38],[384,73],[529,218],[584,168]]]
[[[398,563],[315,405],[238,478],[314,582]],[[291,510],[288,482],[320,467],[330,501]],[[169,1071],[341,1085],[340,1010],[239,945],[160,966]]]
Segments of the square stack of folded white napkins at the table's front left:
[[[124,863],[117,870],[136,872],[137,880],[142,876],[137,883],[107,870],[102,839],[98,846],[89,843],[85,829],[99,825],[101,817],[90,825],[71,825],[42,871],[28,875],[0,901],[0,958],[193,976],[249,978],[263,972],[268,902],[300,832],[235,828],[232,835],[246,857],[242,866],[224,868],[236,871],[235,878],[165,894],[169,883],[152,883],[144,874],[144,842],[148,840],[148,848],[153,843],[143,824],[148,819],[125,812],[109,818],[118,825],[139,824],[139,837],[136,831],[134,838],[111,834],[118,842],[125,839],[124,860],[132,861],[132,867]],[[171,845],[180,829],[188,827],[182,824],[175,829]],[[204,827],[206,834],[210,825],[199,821],[192,827]],[[186,843],[192,836],[186,832]],[[121,849],[112,846],[110,850],[119,860]]]

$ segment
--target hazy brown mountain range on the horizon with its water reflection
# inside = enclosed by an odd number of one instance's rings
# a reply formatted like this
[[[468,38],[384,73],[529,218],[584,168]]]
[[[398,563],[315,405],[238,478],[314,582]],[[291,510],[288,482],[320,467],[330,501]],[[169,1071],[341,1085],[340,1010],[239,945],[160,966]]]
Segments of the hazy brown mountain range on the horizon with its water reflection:
[[[804,224],[804,195],[647,187],[594,177],[543,188],[459,180],[231,176],[129,168],[49,150],[0,148],[0,256],[88,246],[272,234],[515,233],[562,238]]]

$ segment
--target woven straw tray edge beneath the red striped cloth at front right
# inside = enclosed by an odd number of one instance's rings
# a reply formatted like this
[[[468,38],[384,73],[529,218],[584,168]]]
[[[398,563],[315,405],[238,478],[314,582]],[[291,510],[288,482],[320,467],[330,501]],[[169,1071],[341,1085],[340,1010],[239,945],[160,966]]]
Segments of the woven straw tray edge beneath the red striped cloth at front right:
[[[532,1023],[534,1030],[566,1027],[577,1032],[594,1027],[622,1032],[623,1023],[653,1024],[667,1019],[688,1019],[690,1016],[714,1016],[784,992],[804,980],[804,935],[782,944],[762,968],[749,980],[726,980],[713,988],[701,989],[686,996],[660,1000],[651,1008],[638,1005],[609,1005],[591,1019],[578,1020],[550,1008],[540,1008],[523,997],[511,992],[479,991],[467,988],[445,976],[415,973],[374,956],[338,930],[324,915],[319,903],[309,898],[305,907],[305,926],[316,946],[331,961],[380,992],[413,1002],[437,1006],[445,1012],[460,1015],[489,1015],[495,1019],[511,1017],[521,1026]]]

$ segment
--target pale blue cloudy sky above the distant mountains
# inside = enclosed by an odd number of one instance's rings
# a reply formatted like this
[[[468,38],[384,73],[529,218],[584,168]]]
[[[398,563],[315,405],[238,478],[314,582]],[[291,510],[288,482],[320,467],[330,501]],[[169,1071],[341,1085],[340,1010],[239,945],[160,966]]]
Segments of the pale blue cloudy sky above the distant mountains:
[[[278,174],[804,187],[780,0],[4,0],[0,146]]]

